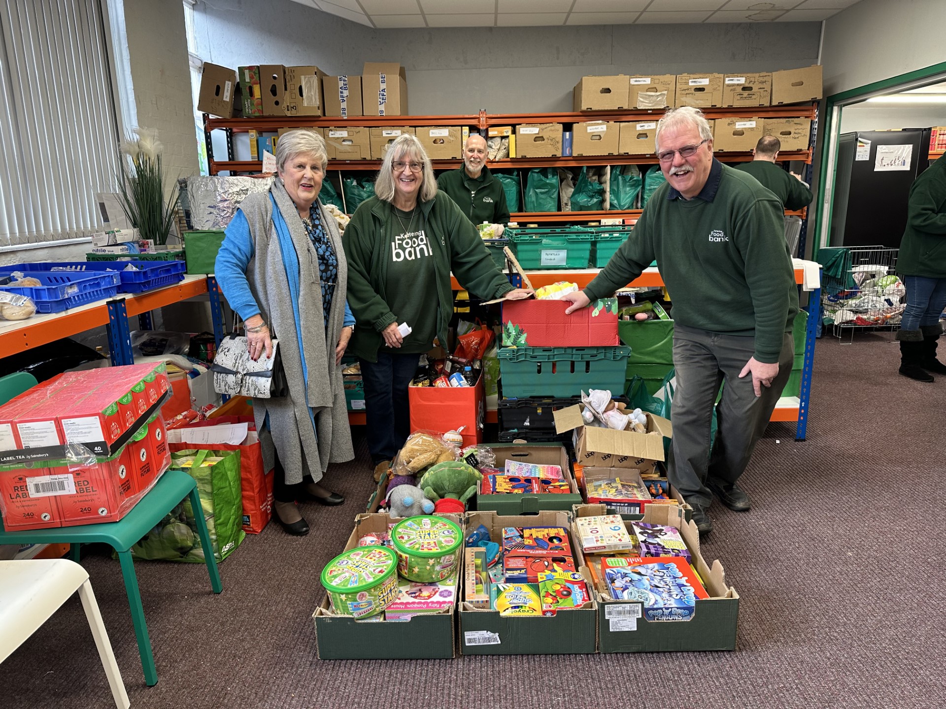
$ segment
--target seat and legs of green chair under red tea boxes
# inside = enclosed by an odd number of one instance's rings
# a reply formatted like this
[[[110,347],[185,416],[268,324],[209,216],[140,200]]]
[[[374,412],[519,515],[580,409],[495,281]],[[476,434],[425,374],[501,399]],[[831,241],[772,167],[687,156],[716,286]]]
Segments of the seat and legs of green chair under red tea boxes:
[[[117,522],[23,531],[7,531],[0,522],[0,545],[70,544],[72,545],[70,553],[74,561],[79,561],[80,544],[104,543],[114,547],[118,553],[118,562],[121,564],[122,577],[125,579],[125,591],[128,593],[128,604],[131,607],[131,622],[134,625],[135,637],[138,639],[138,652],[141,654],[141,666],[148,686],[158,683],[158,672],[154,667],[154,654],[151,651],[148,625],[145,623],[145,611],[141,606],[138,579],[134,574],[130,549],[187,496],[190,497],[190,504],[194,509],[203,556],[207,562],[207,573],[210,574],[210,586],[215,594],[219,594],[223,590],[223,585],[220,583],[217,560],[214,559],[207,523],[203,519],[201,496],[197,493],[197,483],[194,478],[182,470],[166,471],[149,493]]]

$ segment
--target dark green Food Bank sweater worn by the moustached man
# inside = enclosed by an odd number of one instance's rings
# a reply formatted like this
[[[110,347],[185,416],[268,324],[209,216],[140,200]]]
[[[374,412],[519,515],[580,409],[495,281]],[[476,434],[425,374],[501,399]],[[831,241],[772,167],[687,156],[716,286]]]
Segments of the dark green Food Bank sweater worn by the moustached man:
[[[755,337],[760,362],[779,361],[798,293],[779,199],[744,172],[713,161],[693,199],[669,183],[647,202],[630,237],[588,284],[592,301],[627,285],[657,259],[674,320],[725,335]],[[358,313],[355,314],[358,317]]]

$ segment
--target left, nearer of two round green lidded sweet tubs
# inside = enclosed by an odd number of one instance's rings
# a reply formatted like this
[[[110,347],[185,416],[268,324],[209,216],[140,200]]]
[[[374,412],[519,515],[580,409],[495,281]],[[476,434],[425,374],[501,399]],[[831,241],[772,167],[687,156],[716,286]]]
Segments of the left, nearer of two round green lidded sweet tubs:
[[[397,597],[397,557],[386,546],[359,546],[325,564],[322,585],[336,613],[379,614]]]

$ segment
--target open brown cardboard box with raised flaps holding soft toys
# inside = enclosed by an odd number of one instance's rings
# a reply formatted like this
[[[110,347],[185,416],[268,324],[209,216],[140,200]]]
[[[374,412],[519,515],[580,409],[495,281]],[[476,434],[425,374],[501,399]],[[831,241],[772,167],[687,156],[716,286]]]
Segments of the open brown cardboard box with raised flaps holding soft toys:
[[[620,402],[615,407],[622,413],[630,412]],[[645,433],[617,431],[586,425],[584,408],[584,404],[578,404],[554,412],[557,433],[574,431],[575,458],[580,465],[637,468],[640,473],[650,473],[658,461],[665,459],[664,441],[674,436],[674,426],[668,419],[648,413]]]

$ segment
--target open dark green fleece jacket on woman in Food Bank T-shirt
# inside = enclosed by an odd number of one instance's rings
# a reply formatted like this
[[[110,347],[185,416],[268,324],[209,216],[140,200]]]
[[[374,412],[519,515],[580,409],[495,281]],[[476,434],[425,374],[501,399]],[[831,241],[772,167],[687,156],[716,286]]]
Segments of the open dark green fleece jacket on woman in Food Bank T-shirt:
[[[420,202],[419,207],[425,216],[437,277],[434,287],[415,296],[437,308],[437,337],[447,342],[447,323],[453,315],[451,271],[474,298],[499,298],[514,286],[497,268],[480,234],[456,202],[438,193],[434,199]],[[377,361],[377,349],[383,343],[381,331],[401,321],[385,300],[390,243],[386,234],[392,219],[390,204],[377,197],[365,199],[342,235],[348,261],[348,304],[357,320],[348,352],[369,362]],[[412,284],[403,287],[411,288]]]

